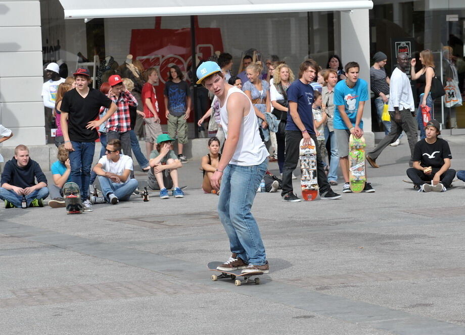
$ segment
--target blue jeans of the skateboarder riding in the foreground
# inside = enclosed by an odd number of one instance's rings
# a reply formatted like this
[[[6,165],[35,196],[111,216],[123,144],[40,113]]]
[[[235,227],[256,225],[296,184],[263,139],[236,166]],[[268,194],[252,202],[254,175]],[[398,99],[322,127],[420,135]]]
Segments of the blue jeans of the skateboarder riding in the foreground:
[[[229,238],[231,252],[253,265],[266,263],[265,247],[250,210],[267,166],[268,159],[252,166],[228,164],[219,192],[218,215]]]

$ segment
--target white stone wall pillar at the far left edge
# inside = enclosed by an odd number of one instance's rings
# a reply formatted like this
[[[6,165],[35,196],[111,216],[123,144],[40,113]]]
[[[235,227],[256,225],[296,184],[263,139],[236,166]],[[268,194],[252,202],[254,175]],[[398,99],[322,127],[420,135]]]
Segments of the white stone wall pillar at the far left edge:
[[[41,41],[38,0],[0,1],[0,123],[14,133],[5,146],[45,144]]]

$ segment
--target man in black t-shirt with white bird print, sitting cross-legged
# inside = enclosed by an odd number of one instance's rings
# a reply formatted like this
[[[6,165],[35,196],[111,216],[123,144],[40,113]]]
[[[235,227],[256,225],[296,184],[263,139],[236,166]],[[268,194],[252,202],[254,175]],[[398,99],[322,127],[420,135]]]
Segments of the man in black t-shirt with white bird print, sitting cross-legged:
[[[407,176],[418,192],[445,192],[455,177],[455,170],[449,169],[452,159],[449,144],[438,138],[441,134],[438,121],[429,121],[425,132],[426,138],[415,145],[413,167],[407,170]]]

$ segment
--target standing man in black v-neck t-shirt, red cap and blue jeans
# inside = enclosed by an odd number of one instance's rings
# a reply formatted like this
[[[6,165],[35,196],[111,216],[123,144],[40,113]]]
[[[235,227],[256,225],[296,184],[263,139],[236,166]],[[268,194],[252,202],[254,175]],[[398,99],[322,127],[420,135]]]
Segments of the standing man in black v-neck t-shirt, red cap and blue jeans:
[[[71,181],[79,186],[84,211],[92,211],[88,200],[90,168],[94,159],[97,129],[115,113],[116,105],[101,91],[90,88],[89,70],[74,73],[76,88],[66,92],[61,102],[61,128],[65,148],[69,150]],[[108,108],[100,120],[100,107]]]

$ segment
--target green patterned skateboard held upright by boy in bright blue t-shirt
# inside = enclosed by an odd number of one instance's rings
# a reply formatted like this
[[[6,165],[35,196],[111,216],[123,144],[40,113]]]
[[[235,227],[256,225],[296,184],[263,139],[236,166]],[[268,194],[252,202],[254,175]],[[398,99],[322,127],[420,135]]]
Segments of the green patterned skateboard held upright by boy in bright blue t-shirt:
[[[353,193],[360,193],[365,188],[365,139],[349,137],[349,181]]]

